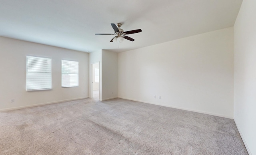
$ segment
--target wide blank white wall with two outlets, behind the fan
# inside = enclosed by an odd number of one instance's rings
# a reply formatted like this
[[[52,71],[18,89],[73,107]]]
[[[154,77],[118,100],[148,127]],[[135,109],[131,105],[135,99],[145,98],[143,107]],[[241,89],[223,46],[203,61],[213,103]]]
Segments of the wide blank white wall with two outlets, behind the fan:
[[[233,118],[233,28],[119,53],[118,97]]]

